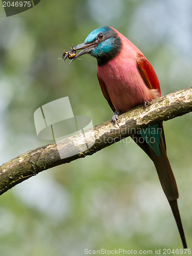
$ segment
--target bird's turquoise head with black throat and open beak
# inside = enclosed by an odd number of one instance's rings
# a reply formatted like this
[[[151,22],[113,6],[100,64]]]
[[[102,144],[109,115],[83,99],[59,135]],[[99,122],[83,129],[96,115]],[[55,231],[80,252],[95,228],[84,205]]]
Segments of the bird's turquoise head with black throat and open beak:
[[[121,39],[111,27],[101,27],[92,31],[82,44],[73,47],[73,50],[82,50],[71,60],[89,53],[97,59],[98,65],[104,65],[113,59],[121,49]]]

